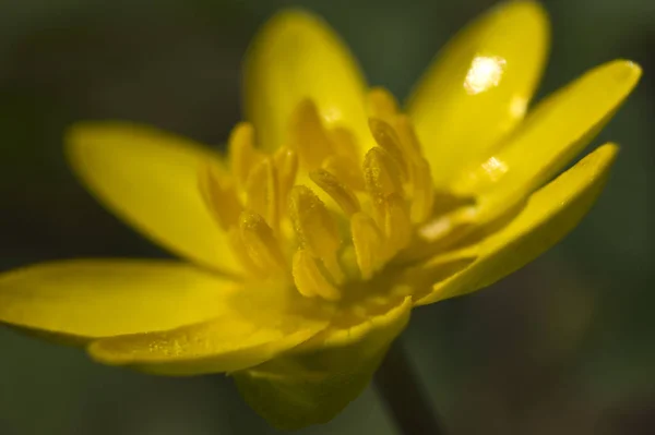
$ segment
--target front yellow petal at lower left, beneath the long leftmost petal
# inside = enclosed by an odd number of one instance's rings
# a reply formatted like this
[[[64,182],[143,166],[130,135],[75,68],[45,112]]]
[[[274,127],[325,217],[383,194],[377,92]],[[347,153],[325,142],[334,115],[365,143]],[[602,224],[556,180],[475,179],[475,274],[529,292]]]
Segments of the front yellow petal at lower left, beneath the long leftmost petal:
[[[302,309],[282,289],[243,289],[229,310],[174,330],[111,337],[88,347],[92,358],[159,375],[196,375],[251,367],[291,349],[330,324],[331,313]],[[298,302],[300,304],[298,304]],[[314,306],[315,309],[315,306]]]

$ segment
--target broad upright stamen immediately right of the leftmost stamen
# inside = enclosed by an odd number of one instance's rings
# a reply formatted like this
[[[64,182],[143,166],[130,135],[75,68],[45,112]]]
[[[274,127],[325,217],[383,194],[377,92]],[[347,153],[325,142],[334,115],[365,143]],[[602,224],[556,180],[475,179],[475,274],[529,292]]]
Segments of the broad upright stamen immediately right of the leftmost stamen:
[[[250,171],[246,182],[247,207],[264,216],[266,223],[277,232],[279,223],[277,170],[270,157]]]

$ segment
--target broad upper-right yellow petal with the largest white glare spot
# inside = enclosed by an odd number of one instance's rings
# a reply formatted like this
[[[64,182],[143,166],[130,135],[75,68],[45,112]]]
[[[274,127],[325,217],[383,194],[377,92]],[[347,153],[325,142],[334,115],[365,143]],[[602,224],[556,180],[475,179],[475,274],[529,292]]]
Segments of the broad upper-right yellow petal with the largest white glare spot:
[[[533,1],[508,1],[440,52],[407,111],[436,185],[479,161],[523,118],[548,51],[548,17]]]

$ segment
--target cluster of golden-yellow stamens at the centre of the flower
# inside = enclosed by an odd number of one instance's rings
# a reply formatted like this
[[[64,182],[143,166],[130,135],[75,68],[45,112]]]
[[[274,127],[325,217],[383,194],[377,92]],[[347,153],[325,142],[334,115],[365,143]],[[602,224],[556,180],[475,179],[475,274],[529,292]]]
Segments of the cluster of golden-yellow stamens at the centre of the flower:
[[[303,100],[288,146],[264,154],[252,125],[240,123],[228,168],[201,171],[205,203],[246,279],[287,280],[307,298],[338,301],[353,282],[377,281],[404,252],[424,252],[448,232],[443,219],[430,220],[430,167],[409,119],[384,89],[371,90],[369,104],[377,146],[364,158],[347,129],[326,129]]]

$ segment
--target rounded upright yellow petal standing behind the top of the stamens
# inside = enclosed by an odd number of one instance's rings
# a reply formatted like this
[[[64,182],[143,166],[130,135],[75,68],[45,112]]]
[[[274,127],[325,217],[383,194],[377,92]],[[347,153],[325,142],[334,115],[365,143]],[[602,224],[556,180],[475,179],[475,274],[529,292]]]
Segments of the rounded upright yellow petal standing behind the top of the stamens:
[[[365,80],[321,19],[299,10],[275,15],[252,41],[243,73],[245,114],[263,148],[288,144],[291,112],[306,98],[318,106],[325,126],[345,125],[355,129],[360,144],[369,140]]]

